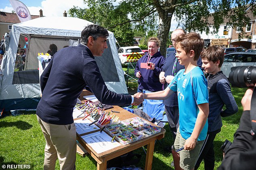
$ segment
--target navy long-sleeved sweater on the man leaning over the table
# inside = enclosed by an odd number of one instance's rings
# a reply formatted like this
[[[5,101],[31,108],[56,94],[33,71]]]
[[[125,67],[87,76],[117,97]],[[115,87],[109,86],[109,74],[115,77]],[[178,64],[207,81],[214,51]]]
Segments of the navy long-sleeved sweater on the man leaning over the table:
[[[85,86],[104,104],[131,104],[132,96],[107,89],[90,49],[66,47],[55,53],[40,77],[42,98],[36,114],[47,123],[73,123],[73,107]]]

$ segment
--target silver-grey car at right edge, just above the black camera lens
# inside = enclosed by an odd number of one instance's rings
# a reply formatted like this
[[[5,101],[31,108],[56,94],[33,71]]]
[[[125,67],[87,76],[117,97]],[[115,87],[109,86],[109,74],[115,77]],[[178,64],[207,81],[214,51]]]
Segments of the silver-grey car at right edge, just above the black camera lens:
[[[221,70],[227,78],[232,67],[236,66],[256,66],[256,53],[235,52],[225,55]]]

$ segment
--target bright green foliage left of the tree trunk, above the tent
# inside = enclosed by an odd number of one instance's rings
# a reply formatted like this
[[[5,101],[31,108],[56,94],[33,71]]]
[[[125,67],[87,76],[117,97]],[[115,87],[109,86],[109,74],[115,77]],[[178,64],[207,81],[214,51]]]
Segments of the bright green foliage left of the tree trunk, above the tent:
[[[143,21],[138,20],[136,24],[132,25],[130,20],[147,13],[144,11],[145,9],[147,10],[145,8],[147,1],[134,0],[132,3],[121,1],[118,5],[113,5],[114,2],[115,0],[84,0],[88,8],[82,9],[74,6],[69,10],[69,14],[107,28],[114,33],[120,46],[133,45],[134,32],[132,27],[138,30],[136,34],[144,37],[147,31],[146,28],[152,28],[152,23],[155,23],[154,16],[149,16],[149,19],[143,19]],[[149,26],[146,27],[145,25]]]

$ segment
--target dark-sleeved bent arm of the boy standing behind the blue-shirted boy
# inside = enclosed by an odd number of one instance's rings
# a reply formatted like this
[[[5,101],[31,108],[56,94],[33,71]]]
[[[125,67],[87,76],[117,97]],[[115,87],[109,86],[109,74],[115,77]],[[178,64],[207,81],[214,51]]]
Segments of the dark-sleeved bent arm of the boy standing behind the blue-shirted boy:
[[[232,95],[231,88],[227,80],[221,79],[218,81],[217,92],[222,102],[226,105],[226,109],[220,112],[220,116],[227,117],[237,113],[237,103],[235,102],[235,98]]]

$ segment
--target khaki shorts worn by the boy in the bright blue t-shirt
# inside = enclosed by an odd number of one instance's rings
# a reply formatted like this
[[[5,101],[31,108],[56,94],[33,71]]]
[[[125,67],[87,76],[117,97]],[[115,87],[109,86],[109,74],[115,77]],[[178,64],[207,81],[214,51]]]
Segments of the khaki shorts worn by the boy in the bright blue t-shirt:
[[[174,141],[174,149],[177,150],[184,146],[186,142],[186,139],[184,139],[180,135],[180,128],[177,129],[177,135]],[[181,150],[179,152],[180,154],[180,168],[183,170],[191,170],[195,167],[195,164],[197,162],[199,152],[201,150],[201,147],[203,145],[204,141],[197,141],[195,148],[193,150]]]

